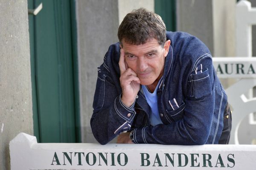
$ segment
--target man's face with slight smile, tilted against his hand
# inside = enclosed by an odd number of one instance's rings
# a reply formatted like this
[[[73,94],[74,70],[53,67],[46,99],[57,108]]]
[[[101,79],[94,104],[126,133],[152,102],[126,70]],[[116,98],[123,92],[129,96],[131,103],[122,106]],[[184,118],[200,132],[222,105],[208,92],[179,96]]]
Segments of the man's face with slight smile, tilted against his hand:
[[[157,83],[163,75],[165,57],[168,54],[170,40],[161,47],[156,39],[150,39],[142,45],[131,45],[122,41],[125,62],[140,79],[142,85]]]

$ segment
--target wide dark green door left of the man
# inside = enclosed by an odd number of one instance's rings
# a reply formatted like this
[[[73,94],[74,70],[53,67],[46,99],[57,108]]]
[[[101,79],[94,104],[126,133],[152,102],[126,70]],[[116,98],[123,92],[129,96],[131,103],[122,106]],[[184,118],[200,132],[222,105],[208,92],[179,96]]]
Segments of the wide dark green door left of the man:
[[[28,0],[34,134],[80,142],[74,1]]]

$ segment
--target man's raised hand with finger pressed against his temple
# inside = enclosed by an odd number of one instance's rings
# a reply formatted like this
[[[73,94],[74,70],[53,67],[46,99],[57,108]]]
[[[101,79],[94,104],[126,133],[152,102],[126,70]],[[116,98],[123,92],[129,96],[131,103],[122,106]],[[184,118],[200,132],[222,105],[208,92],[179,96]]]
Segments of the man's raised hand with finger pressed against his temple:
[[[119,68],[121,74],[120,83],[122,88],[121,100],[125,106],[129,108],[134,103],[140,90],[140,79],[131,68],[128,68],[125,62],[125,53],[122,48],[120,50]]]

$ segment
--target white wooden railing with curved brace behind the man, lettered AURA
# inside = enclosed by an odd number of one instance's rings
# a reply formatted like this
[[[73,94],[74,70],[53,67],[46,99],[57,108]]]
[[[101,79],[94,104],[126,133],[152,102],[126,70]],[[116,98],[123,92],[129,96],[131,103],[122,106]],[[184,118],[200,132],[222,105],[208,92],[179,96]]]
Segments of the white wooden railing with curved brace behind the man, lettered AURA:
[[[256,57],[213,57],[219,78],[236,79],[225,91],[232,107],[230,144],[239,144],[238,129],[241,121],[256,112],[256,98],[247,99],[247,92],[256,86]]]

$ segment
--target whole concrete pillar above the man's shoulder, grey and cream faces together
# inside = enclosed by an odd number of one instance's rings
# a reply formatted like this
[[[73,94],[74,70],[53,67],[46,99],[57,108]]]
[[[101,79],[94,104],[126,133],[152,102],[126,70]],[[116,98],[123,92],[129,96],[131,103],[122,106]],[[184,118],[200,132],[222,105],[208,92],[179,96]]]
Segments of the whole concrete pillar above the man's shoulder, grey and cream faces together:
[[[236,0],[177,0],[177,31],[202,40],[213,56],[235,56]]]

